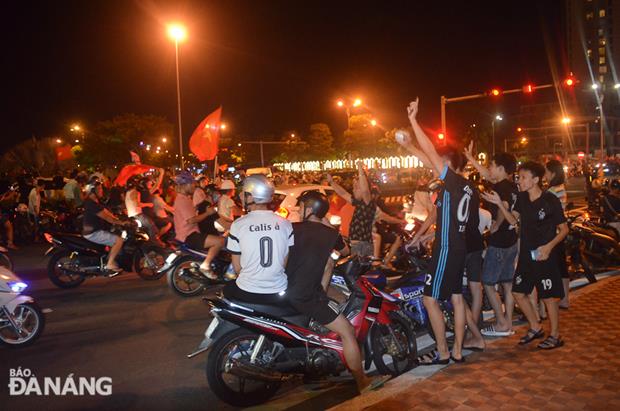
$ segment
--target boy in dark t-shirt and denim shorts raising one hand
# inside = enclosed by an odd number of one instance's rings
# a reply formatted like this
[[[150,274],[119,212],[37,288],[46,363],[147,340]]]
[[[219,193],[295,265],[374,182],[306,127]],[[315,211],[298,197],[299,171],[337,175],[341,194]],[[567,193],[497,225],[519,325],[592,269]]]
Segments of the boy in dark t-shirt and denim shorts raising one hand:
[[[473,143],[473,142],[472,142]],[[465,156],[487,181],[493,182],[493,190],[497,192],[509,211],[517,201],[517,185],[512,182],[512,175],[516,170],[517,160],[512,154],[497,153],[487,169],[476,161],[472,153],[472,144],[465,150]],[[489,204],[489,211],[493,219],[489,246],[484,257],[482,267],[482,283],[489,303],[495,313],[495,323],[482,330],[482,334],[489,337],[508,336],[512,331],[512,313],[514,298],[512,297],[512,280],[515,272],[517,257],[517,230],[509,224],[495,204]],[[504,291],[504,307],[497,293],[496,286],[501,285]]]

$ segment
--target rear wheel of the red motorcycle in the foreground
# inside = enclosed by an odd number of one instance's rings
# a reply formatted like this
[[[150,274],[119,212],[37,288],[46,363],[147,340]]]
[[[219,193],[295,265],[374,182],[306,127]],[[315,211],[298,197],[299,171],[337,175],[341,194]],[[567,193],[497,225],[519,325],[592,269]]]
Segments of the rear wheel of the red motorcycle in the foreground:
[[[282,385],[280,382],[252,380],[228,373],[231,360],[250,359],[256,340],[258,335],[251,331],[234,330],[214,344],[207,358],[209,388],[219,399],[235,407],[263,404]]]

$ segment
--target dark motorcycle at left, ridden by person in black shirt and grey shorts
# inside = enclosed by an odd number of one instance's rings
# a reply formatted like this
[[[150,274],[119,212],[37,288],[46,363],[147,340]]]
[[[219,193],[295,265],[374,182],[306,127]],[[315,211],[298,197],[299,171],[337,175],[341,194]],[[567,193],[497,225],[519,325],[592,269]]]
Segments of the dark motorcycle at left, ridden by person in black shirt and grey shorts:
[[[123,238],[123,248],[117,257],[118,265],[124,271],[133,271],[145,280],[158,280],[164,273],[168,251],[149,239],[138,221],[129,227],[115,227]],[[106,270],[108,247],[87,240],[80,234],[45,233],[51,247],[45,252],[51,258],[47,265],[47,275],[60,288],[74,288],[90,277],[112,277],[118,273]]]

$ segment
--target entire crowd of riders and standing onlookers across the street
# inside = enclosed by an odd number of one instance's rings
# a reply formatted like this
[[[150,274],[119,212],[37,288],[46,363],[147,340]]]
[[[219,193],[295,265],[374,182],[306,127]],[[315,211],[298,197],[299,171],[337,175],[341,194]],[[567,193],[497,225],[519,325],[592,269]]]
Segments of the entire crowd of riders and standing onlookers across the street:
[[[437,349],[420,357],[419,364],[460,363],[465,361],[463,349],[485,348],[484,336],[512,335],[515,305],[529,324],[519,344],[542,339],[540,349],[562,347],[560,310],[570,306],[563,244],[568,227],[562,163],[527,161],[517,167],[512,154],[500,152],[488,166],[481,164],[473,144],[464,150],[435,147],[418,124],[417,113],[415,101],[408,107],[415,138],[402,133],[397,141],[429,168],[406,175],[422,220],[406,248],[430,242],[432,249],[424,306]],[[473,169],[466,167],[468,163]],[[433,178],[439,180],[435,188]],[[270,179],[264,175],[246,177],[240,172],[210,179],[188,171],[172,175],[170,170],[153,169],[114,182],[100,172],[88,175],[73,170],[52,179],[5,175],[0,179],[0,206],[9,248],[16,248],[13,213],[20,203],[26,205],[28,220],[35,228],[46,206],[61,204],[83,213],[81,233],[110,247],[106,268],[112,274],[120,271],[115,259],[123,240],[110,231],[110,225],[127,224],[120,216],[140,221],[162,246],[177,241],[208,250],[200,270],[210,279],[217,279],[211,262],[225,248],[236,272],[225,295],[271,304],[286,299],[338,333],[347,365],[364,391],[380,385],[382,379],[370,380],[364,375],[353,328],[328,304],[326,291],[332,251],[370,257],[373,264],[391,268],[392,258],[401,248],[402,239],[394,232],[407,223],[406,214],[413,210],[388,210],[378,189],[381,179],[385,180],[383,173],[373,174],[362,163],[353,172],[335,176],[281,172]],[[274,185],[304,183],[330,186],[350,208],[350,219],[333,227],[327,219],[330,200],[316,190],[298,199],[300,222],[291,224],[273,212]],[[618,181],[610,188],[607,212],[617,219]],[[385,255],[383,243],[392,243]],[[471,305],[462,295],[464,276]],[[478,318],[483,293],[495,320],[481,329]],[[442,300],[451,300],[454,307],[451,350],[439,305]],[[545,318],[549,319],[546,332]]]

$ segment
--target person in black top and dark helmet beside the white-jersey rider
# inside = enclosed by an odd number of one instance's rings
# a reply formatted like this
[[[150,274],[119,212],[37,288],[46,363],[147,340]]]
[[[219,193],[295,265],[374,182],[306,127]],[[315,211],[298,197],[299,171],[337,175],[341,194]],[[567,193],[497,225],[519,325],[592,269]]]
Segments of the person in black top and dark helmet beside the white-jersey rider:
[[[323,223],[329,210],[329,200],[318,191],[304,193],[297,203],[302,222],[293,224],[295,245],[291,247],[286,275],[288,277],[287,299],[300,313],[305,314],[340,336],[344,357],[357,383],[357,389],[364,392],[386,381],[373,381],[364,374],[355,330],[338,310],[329,305],[329,299],[321,283],[324,276],[331,276],[325,270],[333,250],[346,251],[342,237],[334,228]]]

